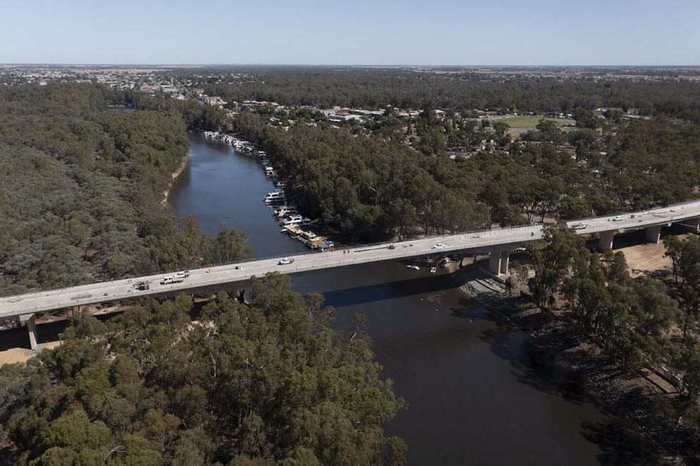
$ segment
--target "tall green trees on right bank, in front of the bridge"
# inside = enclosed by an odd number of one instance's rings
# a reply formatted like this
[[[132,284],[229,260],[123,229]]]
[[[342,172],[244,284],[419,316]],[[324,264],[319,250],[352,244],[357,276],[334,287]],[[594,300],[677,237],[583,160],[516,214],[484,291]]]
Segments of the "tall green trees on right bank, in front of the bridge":
[[[665,455],[694,463],[700,459],[700,238],[664,243],[672,274],[663,281],[632,278],[622,252],[591,253],[566,226],[545,226],[542,244],[530,248],[535,275],[525,282],[545,317],[557,321],[555,329],[574,346],[597,348],[589,357],[601,362],[605,379],[668,369],[677,396],[631,391],[625,400],[633,412],[619,414],[644,427]]]

